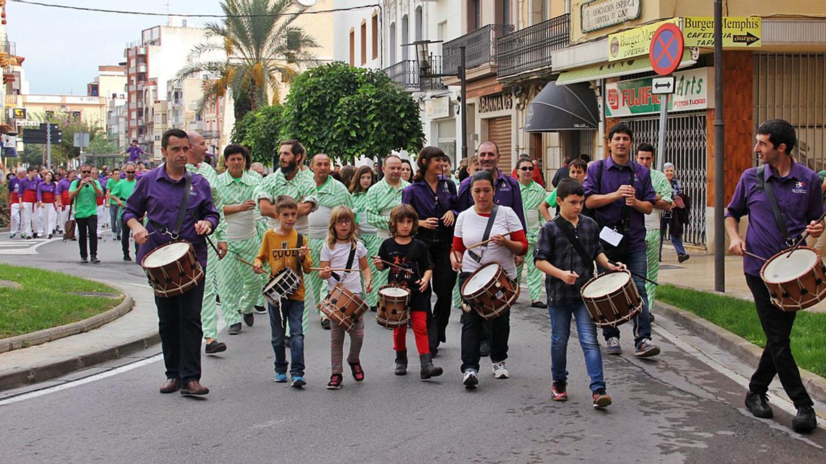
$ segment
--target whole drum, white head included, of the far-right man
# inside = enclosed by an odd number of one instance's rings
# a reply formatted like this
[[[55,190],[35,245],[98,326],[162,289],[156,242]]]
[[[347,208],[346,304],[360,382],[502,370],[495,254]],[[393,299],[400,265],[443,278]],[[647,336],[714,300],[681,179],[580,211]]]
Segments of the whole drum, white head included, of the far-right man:
[[[809,247],[772,256],[760,269],[760,278],[771,303],[784,311],[805,310],[826,296],[826,268],[818,252]]]

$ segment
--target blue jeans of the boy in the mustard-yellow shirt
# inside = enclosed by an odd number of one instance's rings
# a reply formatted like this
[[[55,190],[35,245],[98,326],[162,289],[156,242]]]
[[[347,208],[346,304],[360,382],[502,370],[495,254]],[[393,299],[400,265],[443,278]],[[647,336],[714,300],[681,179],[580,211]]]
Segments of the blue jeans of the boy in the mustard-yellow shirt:
[[[287,353],[284,348],[287,320],[290,323],[290,357],[291,376],[304,376],[304,332],[301,329],[301,317],[304,315],[304,301],[282,300],[281,310],[267,303],[269,307],[269,328],[273,332],[273,352],[275,353],[275,372],[287,373]],[[280,313],[280,314],[279,314]]]

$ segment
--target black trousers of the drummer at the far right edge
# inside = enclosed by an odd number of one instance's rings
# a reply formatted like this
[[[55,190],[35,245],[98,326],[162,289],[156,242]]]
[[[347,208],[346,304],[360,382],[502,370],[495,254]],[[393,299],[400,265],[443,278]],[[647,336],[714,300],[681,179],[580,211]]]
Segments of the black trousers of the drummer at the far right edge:
[[[783,390],[795,403],[796,408],[814,405],[806,392],[806,387],[803,386],[803,381],[800,380],[800,370],[791,353],[789,336],[797,313],[787,312],[772,305],[769,292],[760,277],[746,274],[746,283],[754,296],[757,317],[760,318],[763,333],[766,334],[766,348],[763,348],[757,371],[752,374],[748,389],[755,393],[766,393],[769,384],[777,375],[780,377]]]

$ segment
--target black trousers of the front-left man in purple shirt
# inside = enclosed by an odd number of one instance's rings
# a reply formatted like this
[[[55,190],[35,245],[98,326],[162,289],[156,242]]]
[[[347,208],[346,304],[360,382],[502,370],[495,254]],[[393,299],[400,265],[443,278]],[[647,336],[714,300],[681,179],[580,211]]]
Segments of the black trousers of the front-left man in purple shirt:
[[[207,272],[204,269],[204,272]],[[166,378],[179,378],[183,385],[201,379],[201,301],[204,280],[183,295],[155,295],[158,306],[158,331],[164,350]]]

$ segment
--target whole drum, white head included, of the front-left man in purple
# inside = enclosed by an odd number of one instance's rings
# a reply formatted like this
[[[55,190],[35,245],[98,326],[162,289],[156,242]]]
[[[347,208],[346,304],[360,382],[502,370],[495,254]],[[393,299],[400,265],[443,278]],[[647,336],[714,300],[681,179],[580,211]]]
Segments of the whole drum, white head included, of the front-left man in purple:
[[[178,296],[198,285],[204,272],[192,244],[175,240],[153,249],[140,261],[157,296]]]

